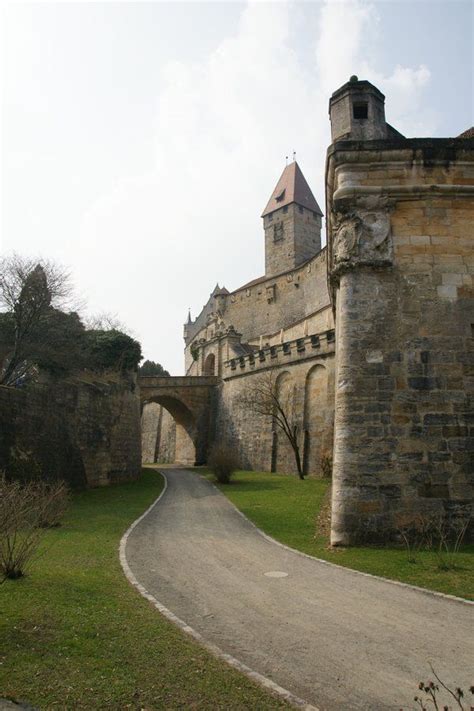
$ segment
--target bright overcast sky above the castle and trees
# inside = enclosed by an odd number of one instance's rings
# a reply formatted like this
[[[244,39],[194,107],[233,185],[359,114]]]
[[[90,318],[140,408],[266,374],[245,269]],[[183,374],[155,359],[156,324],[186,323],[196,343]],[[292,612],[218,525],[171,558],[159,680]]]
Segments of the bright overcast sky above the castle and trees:
[[[68,265],[88,311],[176,375],[188,307],[263,273],[293,150],[324,210],[328,99],[351,74],[406,136],[474,123],[470,0],[2,10],[2,252]]]

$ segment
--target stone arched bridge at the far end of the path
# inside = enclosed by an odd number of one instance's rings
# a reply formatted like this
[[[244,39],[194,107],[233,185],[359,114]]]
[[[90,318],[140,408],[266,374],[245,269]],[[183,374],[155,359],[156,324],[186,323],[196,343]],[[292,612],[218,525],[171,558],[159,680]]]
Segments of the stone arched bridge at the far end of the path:
[[[142,375],[138,378],[142,407],[149,402],[162,405],[191,440],[193,447],[187,448],[189,461],[186,463],[203,464],[206,461],[208,443],[213,434],[215,392],[220,382],[221,379],[213,375]]]

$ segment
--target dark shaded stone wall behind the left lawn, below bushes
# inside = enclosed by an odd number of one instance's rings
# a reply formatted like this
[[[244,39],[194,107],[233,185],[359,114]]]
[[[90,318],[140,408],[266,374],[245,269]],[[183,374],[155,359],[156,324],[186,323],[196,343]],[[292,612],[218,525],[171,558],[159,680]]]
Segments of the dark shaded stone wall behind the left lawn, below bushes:
[[[132,378],[0,387],[0,470],[22,461],[72,487],[140,473],[140,402]]]

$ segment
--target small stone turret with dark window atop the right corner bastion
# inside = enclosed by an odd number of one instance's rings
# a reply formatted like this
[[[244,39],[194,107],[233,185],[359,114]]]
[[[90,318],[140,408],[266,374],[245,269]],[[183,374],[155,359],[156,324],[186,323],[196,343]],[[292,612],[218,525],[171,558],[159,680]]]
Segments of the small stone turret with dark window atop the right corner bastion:
[[[385,121],[385,96],[369,81],[352,76],[329,100],[332,142],[373,141],[400,136]]]

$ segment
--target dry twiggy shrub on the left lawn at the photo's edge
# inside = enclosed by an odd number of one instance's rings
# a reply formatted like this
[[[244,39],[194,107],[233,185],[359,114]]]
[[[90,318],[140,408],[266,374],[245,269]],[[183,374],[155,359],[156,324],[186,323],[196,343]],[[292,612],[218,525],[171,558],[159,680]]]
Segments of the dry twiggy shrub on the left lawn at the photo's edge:
[[[56,526],[66,509],[63,483],[8,481],[0,475],[0,575],[21,578],[31,563],[44,528]]]

